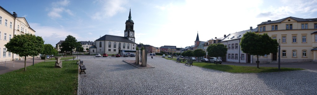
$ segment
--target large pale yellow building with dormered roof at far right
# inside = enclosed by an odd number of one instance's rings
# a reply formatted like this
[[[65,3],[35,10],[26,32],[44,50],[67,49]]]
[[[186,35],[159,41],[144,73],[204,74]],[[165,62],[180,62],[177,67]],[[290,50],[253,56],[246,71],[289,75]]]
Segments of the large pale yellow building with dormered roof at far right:
[[[258,29],[257,33],[267,33],[281,42],[281,63],[317,62],[317,18],[288,17],[275,21],[268,20],[259,24]],[[277,60],[278,53],[259,57],[260,63],[277,63]],[[253,57],[253,61],[256,61],[256,56]]]

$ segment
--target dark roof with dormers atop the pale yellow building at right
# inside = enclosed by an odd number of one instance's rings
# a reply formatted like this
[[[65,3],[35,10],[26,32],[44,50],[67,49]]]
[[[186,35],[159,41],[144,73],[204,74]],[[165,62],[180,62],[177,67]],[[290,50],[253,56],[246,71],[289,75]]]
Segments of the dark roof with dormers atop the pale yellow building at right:
[[[295,17],[287,17],[287,18],[284,18],[284,19],[280,19],[280,20],[275,20],[275,21],[266,21],[266,22],[262,22],[261,24],[259,25],[266,25],[266,24],[273,24],[273,23],[281,23],[283,20],[286,20],[288,18],[291,18],[293,20],[296,20],[297,22],[309,22],[309,21],[317,21],[317,18],[313,18],[313,19],[301,19],[301,18],[295,18]]]

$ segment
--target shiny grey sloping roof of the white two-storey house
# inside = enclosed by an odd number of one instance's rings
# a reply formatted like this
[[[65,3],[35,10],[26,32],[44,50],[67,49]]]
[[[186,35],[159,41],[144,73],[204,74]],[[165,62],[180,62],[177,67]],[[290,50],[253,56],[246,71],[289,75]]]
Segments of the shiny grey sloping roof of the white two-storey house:
[[[237,40],[237,39],[241,39],[243,34],[247,33],[247,32],[255,32],[258,31],[258,27],[256,27],[255,29],[252,30],[245,30],[245,31],[240,31],[240,32],[236,32],[236,33],[231,33],[228,36],[226,36],[225,38],[223,38],[223,40],[221,40],[220,42],[226,42],[226,41],[231,41],[231,40]],[[240,36],[239,36],[240,35]]]

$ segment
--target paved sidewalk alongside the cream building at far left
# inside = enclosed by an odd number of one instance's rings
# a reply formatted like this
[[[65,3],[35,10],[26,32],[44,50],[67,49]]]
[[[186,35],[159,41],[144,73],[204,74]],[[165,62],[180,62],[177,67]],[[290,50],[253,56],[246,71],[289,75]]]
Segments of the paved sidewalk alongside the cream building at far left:
[[[44,60],[41,58],[34,58],[34,64],[43,62],[43,61]],[[14,67],[13,67],[13,64],[14,64]],[[32,64],[33,64],[33,58],[26,59],[26,66],[30,66]],[[24,60],[0,62],[0,75],[7,72],[14,71],[14,70],[18,70],[21,68],[24,68]]]

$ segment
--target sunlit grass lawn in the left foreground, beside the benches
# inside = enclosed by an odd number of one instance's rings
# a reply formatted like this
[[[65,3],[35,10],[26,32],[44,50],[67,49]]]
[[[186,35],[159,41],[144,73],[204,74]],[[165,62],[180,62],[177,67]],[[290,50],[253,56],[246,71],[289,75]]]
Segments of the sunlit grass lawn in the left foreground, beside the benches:
[[[0,95],[71,95],[78,86],[76,60],[63,61],[63,68],[54,68],[53,62],[40,62],[34,66],[0,75]]]

